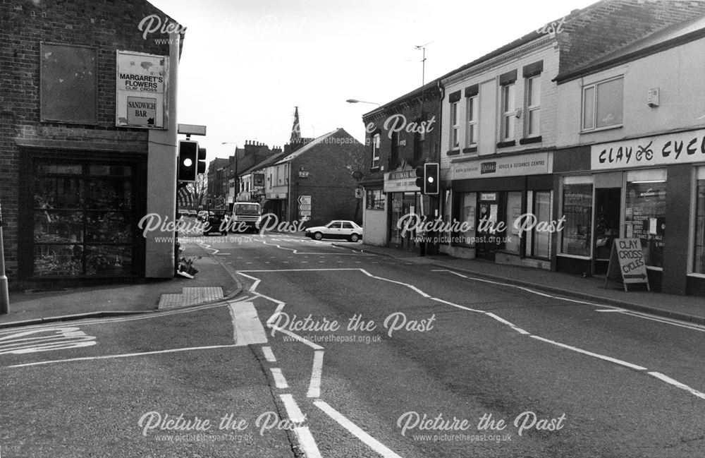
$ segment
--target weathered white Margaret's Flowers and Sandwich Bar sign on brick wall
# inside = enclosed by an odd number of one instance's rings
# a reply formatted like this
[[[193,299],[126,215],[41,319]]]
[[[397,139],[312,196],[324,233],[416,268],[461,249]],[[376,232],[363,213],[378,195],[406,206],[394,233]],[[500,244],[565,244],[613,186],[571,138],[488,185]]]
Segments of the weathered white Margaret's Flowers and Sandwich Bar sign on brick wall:
[[[118,127],[164,128],[168,92],[168,56],[117,51]]]

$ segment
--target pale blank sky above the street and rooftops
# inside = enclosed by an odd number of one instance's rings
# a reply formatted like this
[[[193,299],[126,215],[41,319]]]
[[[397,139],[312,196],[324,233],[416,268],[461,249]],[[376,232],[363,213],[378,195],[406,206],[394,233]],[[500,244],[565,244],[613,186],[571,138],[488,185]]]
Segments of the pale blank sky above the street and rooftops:
[[[295,106],[302,137],[364,141],[376,104],[596,0],[150,1],[186,27],[178,122],[207,126],[210,160],[246,140],[283,147]]]

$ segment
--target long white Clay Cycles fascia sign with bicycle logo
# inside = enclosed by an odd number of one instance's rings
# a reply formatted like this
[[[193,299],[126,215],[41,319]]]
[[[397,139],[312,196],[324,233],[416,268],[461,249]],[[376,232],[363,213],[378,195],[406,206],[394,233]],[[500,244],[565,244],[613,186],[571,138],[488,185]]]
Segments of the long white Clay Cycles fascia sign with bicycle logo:
[[[591,147],[593,170],[705,161],[705,130]]]

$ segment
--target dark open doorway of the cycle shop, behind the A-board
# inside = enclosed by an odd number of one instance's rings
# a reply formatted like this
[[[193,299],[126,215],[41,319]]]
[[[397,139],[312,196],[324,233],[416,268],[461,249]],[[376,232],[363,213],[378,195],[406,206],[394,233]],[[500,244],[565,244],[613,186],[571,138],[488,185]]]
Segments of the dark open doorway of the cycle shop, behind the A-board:
[[[597,275],[606,274],[612,243],[619,236],[622,188],[595,188],[594,266]]]

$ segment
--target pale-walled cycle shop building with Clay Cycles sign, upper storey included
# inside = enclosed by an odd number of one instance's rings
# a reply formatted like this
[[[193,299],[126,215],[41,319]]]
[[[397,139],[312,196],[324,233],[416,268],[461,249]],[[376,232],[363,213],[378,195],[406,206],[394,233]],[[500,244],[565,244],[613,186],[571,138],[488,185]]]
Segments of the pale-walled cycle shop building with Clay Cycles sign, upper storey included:
[[[701,16],[558,75],[557,270],[639,239],[652,289],[705,295],[704,51]]]

